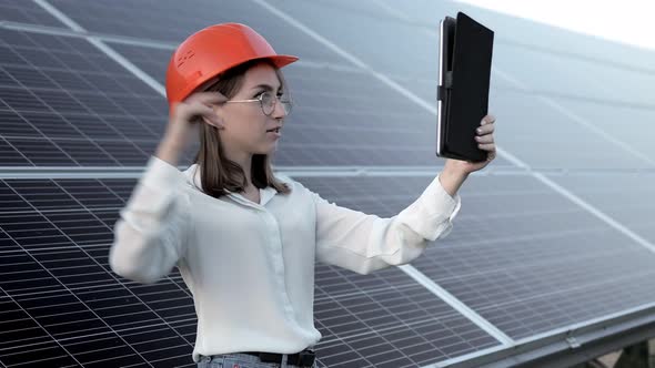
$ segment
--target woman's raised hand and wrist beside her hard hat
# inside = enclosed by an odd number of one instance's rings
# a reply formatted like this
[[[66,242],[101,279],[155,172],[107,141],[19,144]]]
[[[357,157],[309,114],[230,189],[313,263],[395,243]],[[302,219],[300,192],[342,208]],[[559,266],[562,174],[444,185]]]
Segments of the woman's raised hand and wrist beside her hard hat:
[[[212,105],[219,105],[225,101],[228,101],[228,98],[219,92],[196,92],[173,105],[169,116],[169,125],[155,156],[177,165],[179,156],[193,135],[192,125],[203,122],[223,129],[223,123],[212,109]]]

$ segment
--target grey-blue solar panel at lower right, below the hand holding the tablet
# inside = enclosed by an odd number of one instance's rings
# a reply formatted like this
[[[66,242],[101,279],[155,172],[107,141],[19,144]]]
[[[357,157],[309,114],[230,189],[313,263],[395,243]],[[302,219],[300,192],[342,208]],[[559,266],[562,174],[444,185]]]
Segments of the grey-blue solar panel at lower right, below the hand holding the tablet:
[[[510,177],[467,183],[470,214],[416,268],[515,339],[655,301],[652,251],[534,178]]]

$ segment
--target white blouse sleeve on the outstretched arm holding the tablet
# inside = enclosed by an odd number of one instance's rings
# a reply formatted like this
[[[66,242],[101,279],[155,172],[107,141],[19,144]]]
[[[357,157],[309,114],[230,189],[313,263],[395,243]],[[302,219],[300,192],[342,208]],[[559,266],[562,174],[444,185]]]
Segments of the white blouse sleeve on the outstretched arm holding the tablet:
[[[445,237],[461,198],[445,192],[439,175],[409,207],[381,218],[340,207],[312,192],[316,207],[316,259],[359,274],[403,265],[423,253],[429,241]]]

